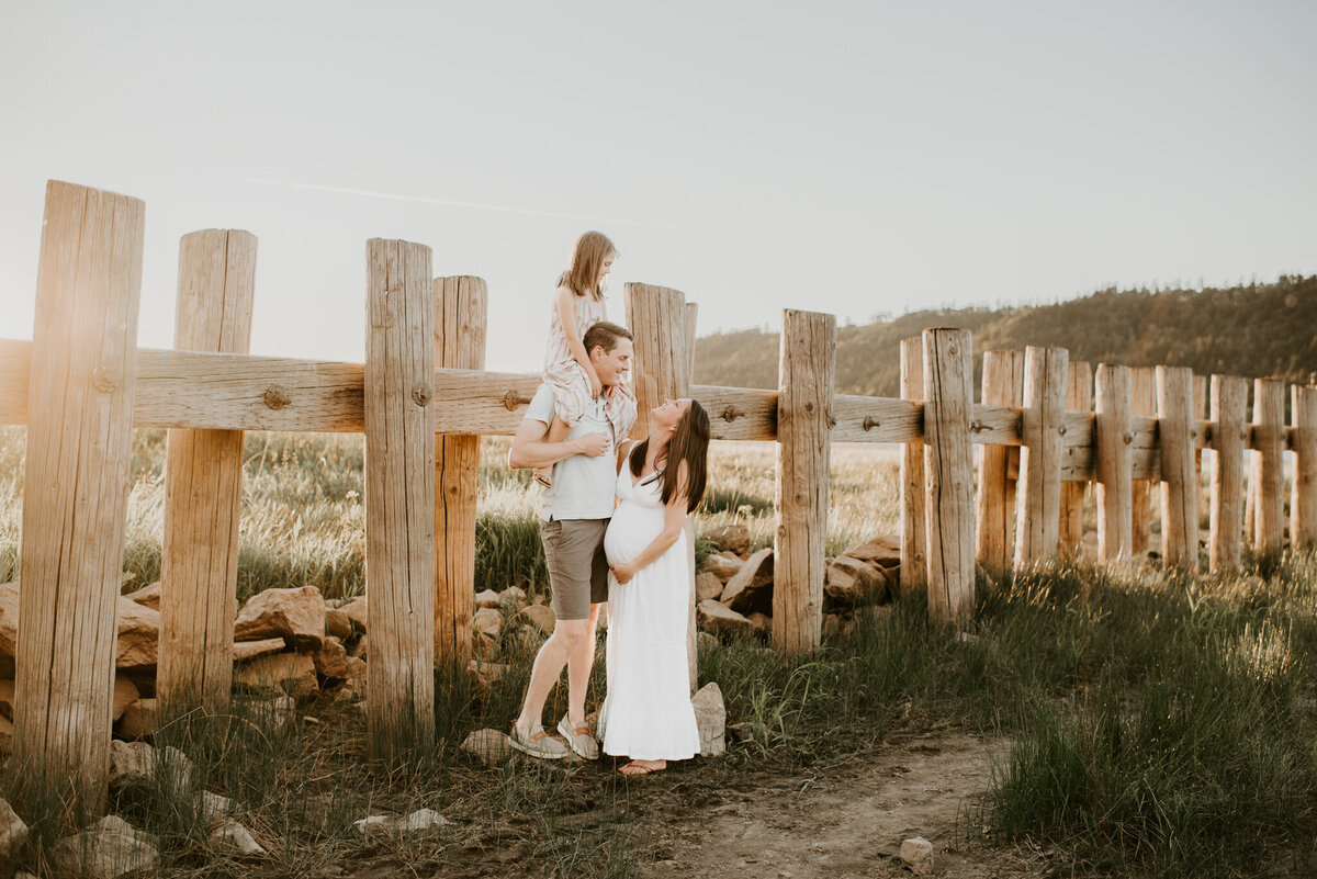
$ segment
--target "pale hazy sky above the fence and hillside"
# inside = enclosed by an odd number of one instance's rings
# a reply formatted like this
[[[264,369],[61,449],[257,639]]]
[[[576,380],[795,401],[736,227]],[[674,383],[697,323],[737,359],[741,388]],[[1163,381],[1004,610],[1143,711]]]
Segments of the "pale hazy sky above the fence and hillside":
[[[595,228],[701,334],[1109,284],[1317,272],[1317,3],[0,0],[0,337],[30,338],[47,179],[178,239],[259,238],[252,351],[361,361],[365,241],[490,286],[541,367]]]

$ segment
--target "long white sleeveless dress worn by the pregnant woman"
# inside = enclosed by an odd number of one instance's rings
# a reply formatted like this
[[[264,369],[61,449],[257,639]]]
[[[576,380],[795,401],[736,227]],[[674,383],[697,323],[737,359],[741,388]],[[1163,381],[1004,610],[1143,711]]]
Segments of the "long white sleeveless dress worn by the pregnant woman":
[[[616,491],[622,503],[603,538],[610,563],[631,562],[664,528],[656,478],[632,484],[631,467],[624,465]],[[686,663],[689,565],[682,530],[666,553],[628,583],[608,575],[608,690],[599,711],[605,754],[684,761],[699,753]]]

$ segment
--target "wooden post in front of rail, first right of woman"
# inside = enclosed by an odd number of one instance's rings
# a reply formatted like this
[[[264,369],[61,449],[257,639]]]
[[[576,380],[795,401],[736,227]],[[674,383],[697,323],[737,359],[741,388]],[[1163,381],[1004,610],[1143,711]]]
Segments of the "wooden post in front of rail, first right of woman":
[[[814,650],[822,637],[835,372],[836,318],[785,309],[777,395],[773,645],[788,654]]]

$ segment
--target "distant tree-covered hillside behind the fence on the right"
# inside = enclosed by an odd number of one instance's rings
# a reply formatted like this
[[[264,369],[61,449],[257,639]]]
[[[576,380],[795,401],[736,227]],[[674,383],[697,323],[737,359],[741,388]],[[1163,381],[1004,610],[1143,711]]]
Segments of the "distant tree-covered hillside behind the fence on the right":
[[[838,328],[836,391],[900,396],[900,343],[959,326],[989,349],[1059,345],[1072,361],[1189,366],[1209,375],[1308,380],[1317,372],[1317,275],[1227,289],[1104,289],[1055,305],[934,309]],[[697,384],[777,387],[778,337],[741,330],[695,345]],[[979,387],[979,361],[975,362]]]

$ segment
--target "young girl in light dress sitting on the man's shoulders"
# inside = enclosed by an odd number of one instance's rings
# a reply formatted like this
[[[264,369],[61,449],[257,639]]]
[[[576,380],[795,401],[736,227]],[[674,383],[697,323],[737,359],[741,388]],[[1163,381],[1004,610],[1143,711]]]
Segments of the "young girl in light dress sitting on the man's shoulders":
[[[581,420],[593,400],[603,391],[590,363],[590,353],[581,338],[585,332],[607,320],[603,304],[603,279],[612,271],[618,249],[599,232],[587,232],[572,249],[572,264],[558,278],[549,317],[549,343],[544,354],[544,380],[553,387],[554,414],[547,440],[561,442]],[[636,397],[626,384],[616,384],[603,401],[605,416],[619,433],[635,422]],[[619,436],[620,441],[622,437]],[[535,478],[551,484],[553,468],[541,467]]]

